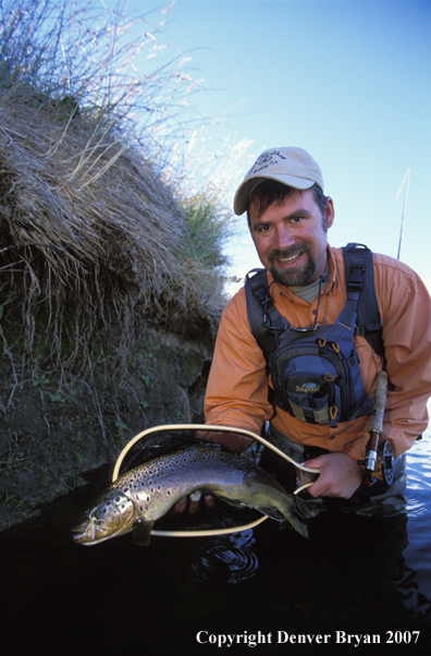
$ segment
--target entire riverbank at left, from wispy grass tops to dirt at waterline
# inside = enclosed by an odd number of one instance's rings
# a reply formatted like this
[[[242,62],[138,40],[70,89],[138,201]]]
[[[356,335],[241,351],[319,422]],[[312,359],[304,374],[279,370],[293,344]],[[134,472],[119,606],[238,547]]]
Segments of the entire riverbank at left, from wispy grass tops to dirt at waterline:
[[[201,421],[225,304],[226,211],[157,142],[192,77],[137,77],[145,21],[73,11],[1,5],[0,530],[143,429]]]

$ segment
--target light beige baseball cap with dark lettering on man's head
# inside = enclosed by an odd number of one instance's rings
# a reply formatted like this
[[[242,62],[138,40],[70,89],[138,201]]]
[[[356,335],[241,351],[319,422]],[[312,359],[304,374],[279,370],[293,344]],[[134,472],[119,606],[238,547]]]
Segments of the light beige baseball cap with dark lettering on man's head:
[[[250,194],[262,180],[278,180],[293,189],[306,190],[318,184],[323,191],[319,165],[303,148],[283,147],[264,150],[236,190],[234,211],[242,215],[248,207]]]

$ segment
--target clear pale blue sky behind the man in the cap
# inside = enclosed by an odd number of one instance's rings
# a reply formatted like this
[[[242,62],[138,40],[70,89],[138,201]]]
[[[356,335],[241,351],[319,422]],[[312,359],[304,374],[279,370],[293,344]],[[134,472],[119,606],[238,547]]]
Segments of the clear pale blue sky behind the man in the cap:
[[[404,190],[395,196],[410,168],[401,259],[431,286],[431,3],[176,0],[162,14],[168,5],[125,3],[149,28],[165,21],[168,56],[187,53],[206,89],[189,99],[207,117],[186,146],[198,184],[214,180],[231,206],[262,150],[300,146],[334,201],[330,243],[396,257]],[[244,223],[227,246],[239,276],[259,265]]]

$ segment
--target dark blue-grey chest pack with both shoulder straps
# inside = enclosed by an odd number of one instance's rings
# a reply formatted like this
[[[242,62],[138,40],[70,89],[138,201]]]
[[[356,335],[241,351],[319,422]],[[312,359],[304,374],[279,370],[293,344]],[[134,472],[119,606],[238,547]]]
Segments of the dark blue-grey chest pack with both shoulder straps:
[[[347,244],[343,255],[347,301],[329,326],[291,326],[273,304],[266,269],[250,271],[245,283],[248,321],[267,361],[273,402],[303,422],[331,427],[372,411],[354,336],[364,335],[384,357],[372,253],[362,244]]]

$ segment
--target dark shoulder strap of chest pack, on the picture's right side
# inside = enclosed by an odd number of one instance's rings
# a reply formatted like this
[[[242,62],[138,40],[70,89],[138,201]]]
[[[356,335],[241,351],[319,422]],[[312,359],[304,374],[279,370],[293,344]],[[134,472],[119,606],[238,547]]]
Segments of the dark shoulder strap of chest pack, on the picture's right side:
[[[359,292],[357,335],[364,335],[375,353],[384,357],[382,325],[375,296],[372,252],[364,244],[347,244],[343,248],[348,291]]]

